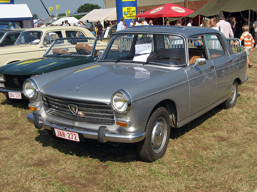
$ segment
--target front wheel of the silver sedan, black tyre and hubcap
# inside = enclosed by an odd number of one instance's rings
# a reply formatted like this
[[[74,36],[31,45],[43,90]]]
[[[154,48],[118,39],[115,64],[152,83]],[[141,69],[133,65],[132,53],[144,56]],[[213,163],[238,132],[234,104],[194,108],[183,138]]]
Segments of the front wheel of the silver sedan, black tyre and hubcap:
[[[143,161],[154,162],[166,152],[171,126],[168,111],[160,107],[150,116],[145,127],[145,138],[137,143],[137,152]]]

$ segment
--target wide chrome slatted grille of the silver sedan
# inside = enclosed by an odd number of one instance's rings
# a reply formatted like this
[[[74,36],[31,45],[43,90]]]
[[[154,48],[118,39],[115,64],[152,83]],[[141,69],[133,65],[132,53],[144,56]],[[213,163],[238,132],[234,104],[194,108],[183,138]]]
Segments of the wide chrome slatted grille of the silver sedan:
[[[114,114],[111,105],[102,102],[76,100],[44,95],[42,97],[46,111],[58,117],[93,124],[114,124]],[[72,114],[69,105],[77,106],[77,111],[83,117]]]

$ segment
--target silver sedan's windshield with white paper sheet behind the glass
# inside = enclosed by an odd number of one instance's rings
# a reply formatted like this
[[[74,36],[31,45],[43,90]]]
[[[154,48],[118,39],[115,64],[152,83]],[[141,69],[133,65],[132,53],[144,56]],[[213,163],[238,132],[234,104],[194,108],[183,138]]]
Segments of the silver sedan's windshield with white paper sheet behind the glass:
[[[185,65],[185,40],[171,34],[116,34],[99,60]]]

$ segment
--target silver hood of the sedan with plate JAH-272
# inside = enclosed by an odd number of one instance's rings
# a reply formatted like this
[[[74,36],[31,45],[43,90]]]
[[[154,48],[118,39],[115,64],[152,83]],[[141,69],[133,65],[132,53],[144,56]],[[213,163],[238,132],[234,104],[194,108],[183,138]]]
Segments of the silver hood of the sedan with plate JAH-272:
[[[112,94],[119,89],[126,90],[132,94],[131,96],[138,94],[139,89],[154,92],[152,85],[157,76],[165,75],[166,73],[179,69],[155,68],[142,65],[115,66],[97,64],[99,63],[85,66],[85,68],[70,72],[69,74],[67,73],[67,75],[51,81],[41,89],[41,93],[57,97],[109,103]],[[50,74],[48,73],[48,75]],[[42,76],[41,78],[43,78]],[[134,93],[135,90],[137,91]]]

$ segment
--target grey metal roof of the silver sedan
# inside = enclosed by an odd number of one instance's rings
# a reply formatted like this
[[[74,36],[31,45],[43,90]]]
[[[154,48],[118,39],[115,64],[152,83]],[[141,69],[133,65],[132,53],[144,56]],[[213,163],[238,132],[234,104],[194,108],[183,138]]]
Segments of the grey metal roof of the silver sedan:
[[[133,26],[127,28],[126,30],[120,30],[115,34],[119,33],[173,33],[180,34],[183,36],[191,36],[196,34],[203,33],[218,33],[218,30],[206,28],[206,27],[187,27],[187,26],[157,26],[157,25],[148,25],[148,26]]]

